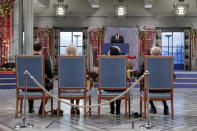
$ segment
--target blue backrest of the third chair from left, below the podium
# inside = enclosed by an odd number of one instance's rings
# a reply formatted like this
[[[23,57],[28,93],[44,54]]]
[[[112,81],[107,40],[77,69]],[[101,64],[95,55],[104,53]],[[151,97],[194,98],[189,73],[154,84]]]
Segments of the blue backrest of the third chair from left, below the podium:
[[[99,88],[126,88],[126,56],[99,56]]]

